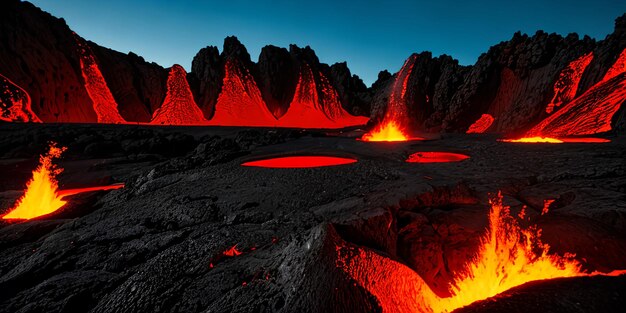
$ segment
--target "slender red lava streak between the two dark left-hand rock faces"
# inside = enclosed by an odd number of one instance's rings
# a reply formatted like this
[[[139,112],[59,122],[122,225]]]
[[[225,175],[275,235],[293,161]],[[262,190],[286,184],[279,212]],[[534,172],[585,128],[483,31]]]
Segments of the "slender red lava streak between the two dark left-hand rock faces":
[[[93,110],[98,117],[98,123],[123,124],[126,123],[117,109],[117,102],[107,86],[98,62],[91,48],[80,38],[76,39],[80,54],[80,69],[85,80],[85,89],[93,102]]]

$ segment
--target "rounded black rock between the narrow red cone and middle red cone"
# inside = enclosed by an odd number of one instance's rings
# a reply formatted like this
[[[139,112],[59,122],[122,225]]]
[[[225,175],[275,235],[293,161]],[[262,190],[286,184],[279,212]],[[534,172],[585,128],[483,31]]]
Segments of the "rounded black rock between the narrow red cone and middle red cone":
[[[196,103],[204,117],[210,119],[224,79],[224,63],[217,47],[209,46],[198,51],[193,58],[188,77]]]

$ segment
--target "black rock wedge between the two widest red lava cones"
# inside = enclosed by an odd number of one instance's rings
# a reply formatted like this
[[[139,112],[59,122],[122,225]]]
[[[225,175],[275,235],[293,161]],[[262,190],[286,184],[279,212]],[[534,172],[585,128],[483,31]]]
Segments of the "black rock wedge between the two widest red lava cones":
[[[263,100],[274,116],[282,116],[296,91],[298,63],[287,49],[265,46],[261,49],[257,69],[257,83]]]

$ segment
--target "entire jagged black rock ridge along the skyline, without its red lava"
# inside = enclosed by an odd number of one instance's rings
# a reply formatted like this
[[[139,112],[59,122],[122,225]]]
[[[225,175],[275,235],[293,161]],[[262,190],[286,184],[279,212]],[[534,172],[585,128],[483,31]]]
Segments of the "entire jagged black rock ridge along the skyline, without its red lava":
[[[81,77],[76,35],[64,20],[28,2],[3,1],[0,6],[0,74],[30,95],[33,112],[44,122],[95,122]],[[167,70],[132,52],[122,54],[89,45],[122,117],[128,122],[148,122],[165,97]],[[529,36],[518,32],[511,40],[491,47],[472,66],[462,66],[447,55],[414,54],[408,60],[411,72],[404,82],[408,126],[429,132],[465,132],[483,114],[489,114],[495,121],[488,132],[524,133],[553,114],[545,108],[555,95],[555,83],[571,62],[593,54],[574,89],[580,96],[602,80],[625,48],[626,15],[616,20],[615,31],[601,41],[576,34],[563,37],[538,31]],[[263,102],[277,118],[289,109],[303,66],[311,70],[322,107],[338,100],[347,112],[371,117],[371,123],[385,115],[397,76],[382,71],[367,87],[345,62],[321,63],[308,46],[266,46],[258,60],[253,62],[234,36],[225,39],[221,53],[213,46],[197,53],[187,80],[206,119],[214,114],[227,61],[233,62],[237,71],[251,75],[251,86],[258,86]],[[334,91],[325,92],[325,86]],[[613,116],[613,129],[625,128],[624,111],[622,108]]]

